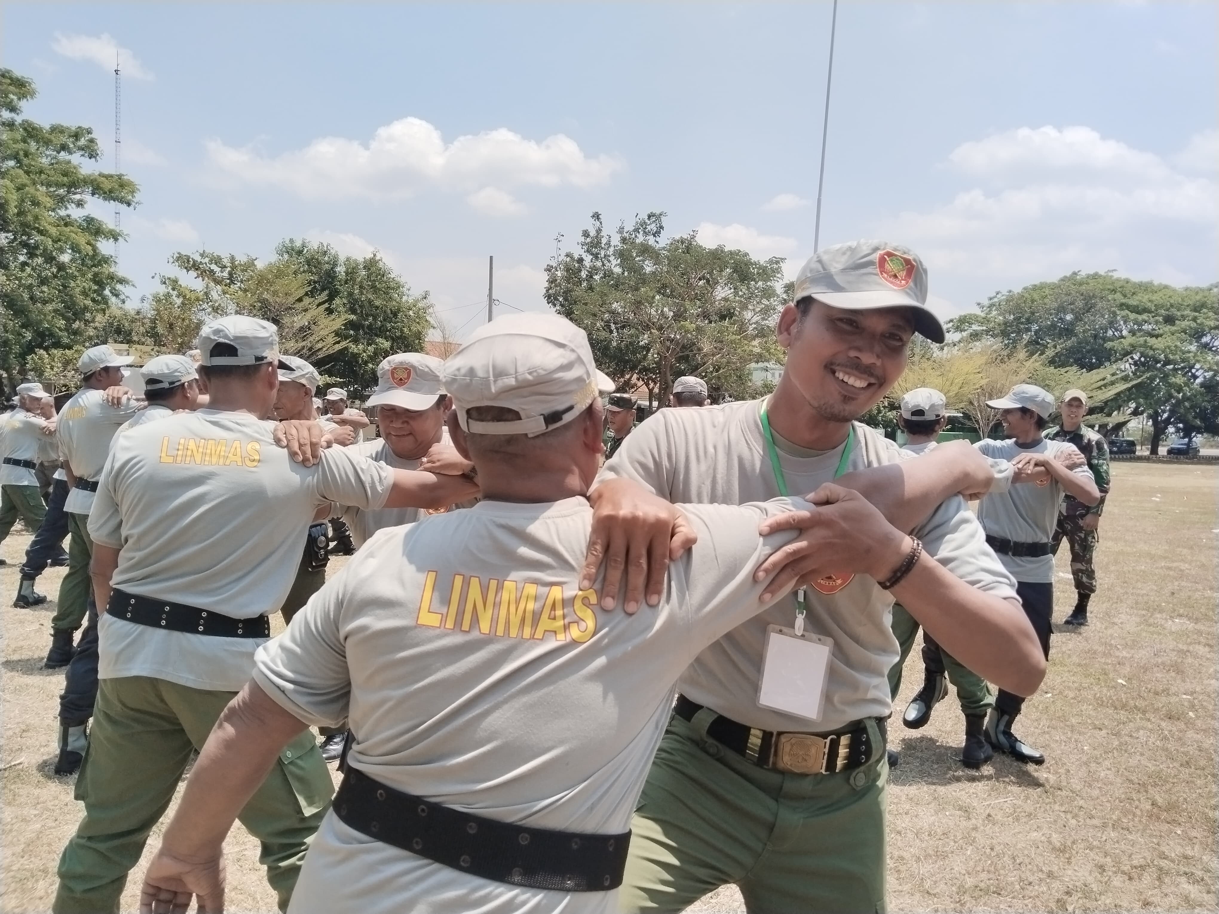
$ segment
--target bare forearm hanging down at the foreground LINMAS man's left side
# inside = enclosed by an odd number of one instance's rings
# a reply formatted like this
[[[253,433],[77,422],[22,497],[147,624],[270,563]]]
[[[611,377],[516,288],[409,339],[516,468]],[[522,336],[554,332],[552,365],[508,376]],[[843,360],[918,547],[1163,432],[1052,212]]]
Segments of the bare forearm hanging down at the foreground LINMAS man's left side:
[[[229,702],[195,762],[182,802],[161,842],[183,860],[217,857],[238,813],[267,778],[280,751],[305,724],[256,684]]]

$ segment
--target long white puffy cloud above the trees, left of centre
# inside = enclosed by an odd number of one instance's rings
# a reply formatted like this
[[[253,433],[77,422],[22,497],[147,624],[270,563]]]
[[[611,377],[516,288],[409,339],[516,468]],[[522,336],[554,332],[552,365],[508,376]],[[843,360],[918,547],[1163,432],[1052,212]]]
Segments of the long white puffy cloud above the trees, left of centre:
[[[302,197],[410,196],[423,188],[474,193],[511,188],[603,184],[622,168],[607,155],[586,156],[563,134],[528,140],[499,128],[446,144],[427,121],[406,117],[380,127],[367,144],[323,136],[300,150],[266,156],[207,140],[213,168],[249,184],[279,186]]]

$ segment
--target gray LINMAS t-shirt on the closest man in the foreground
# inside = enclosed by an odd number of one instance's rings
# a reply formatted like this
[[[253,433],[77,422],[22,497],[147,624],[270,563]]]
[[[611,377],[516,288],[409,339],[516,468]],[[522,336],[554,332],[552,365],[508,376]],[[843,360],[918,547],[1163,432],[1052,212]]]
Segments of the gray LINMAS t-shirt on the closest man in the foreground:
[[[502,821],[625,831],[695,654],[757,612],[752,572],[791,537],[758,523],[800,501],[690,506],[698,542],[635,615],[580,591],[585,498],[482,502],[382,530],[258,650],[254,680],[301,720],[355,734],[349,763]],[[617,892],[464,875],[327,814],[291,914],[617,910]]]

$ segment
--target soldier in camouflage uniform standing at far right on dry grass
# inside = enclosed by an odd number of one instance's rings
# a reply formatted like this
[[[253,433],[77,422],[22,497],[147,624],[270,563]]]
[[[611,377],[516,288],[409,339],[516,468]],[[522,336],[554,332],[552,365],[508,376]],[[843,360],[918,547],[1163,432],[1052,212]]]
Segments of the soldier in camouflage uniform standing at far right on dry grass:
[[[1063,537],[1070,547],[1070,573],[1075,579],[1075,609],[1063,619],[1063,625],[1087,625],[1087,603],[1096,592],[1096,544],[1100,541],[1101,511],[1104,508],[1104,496],[1109,492],[1109,446],[1104,438],[1082,424],[1087,412],[1087,394],[1082,390],[1068,390],[1059,403],[1063,423],[1057,429],[1046,433],[1051,441],[1067,441],[1075,445],[1087,468],[1092,470],[1096,487],[1101,490],[1101,501],[1089,507],[1069,495],[1063,498],[1058,509],[1058,529],[1052,542],[1054,554]]]

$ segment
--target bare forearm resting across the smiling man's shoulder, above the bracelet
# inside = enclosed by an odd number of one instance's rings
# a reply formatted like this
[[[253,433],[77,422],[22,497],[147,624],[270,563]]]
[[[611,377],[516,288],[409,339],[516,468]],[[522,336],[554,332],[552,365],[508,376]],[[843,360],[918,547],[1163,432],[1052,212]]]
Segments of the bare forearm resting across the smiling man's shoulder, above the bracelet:
[[[922,457],[846,473],[834,480],[870,501],[903,533],[923,523],[946,498],[993,479],[986,457],[965,442],[941,445]]]

